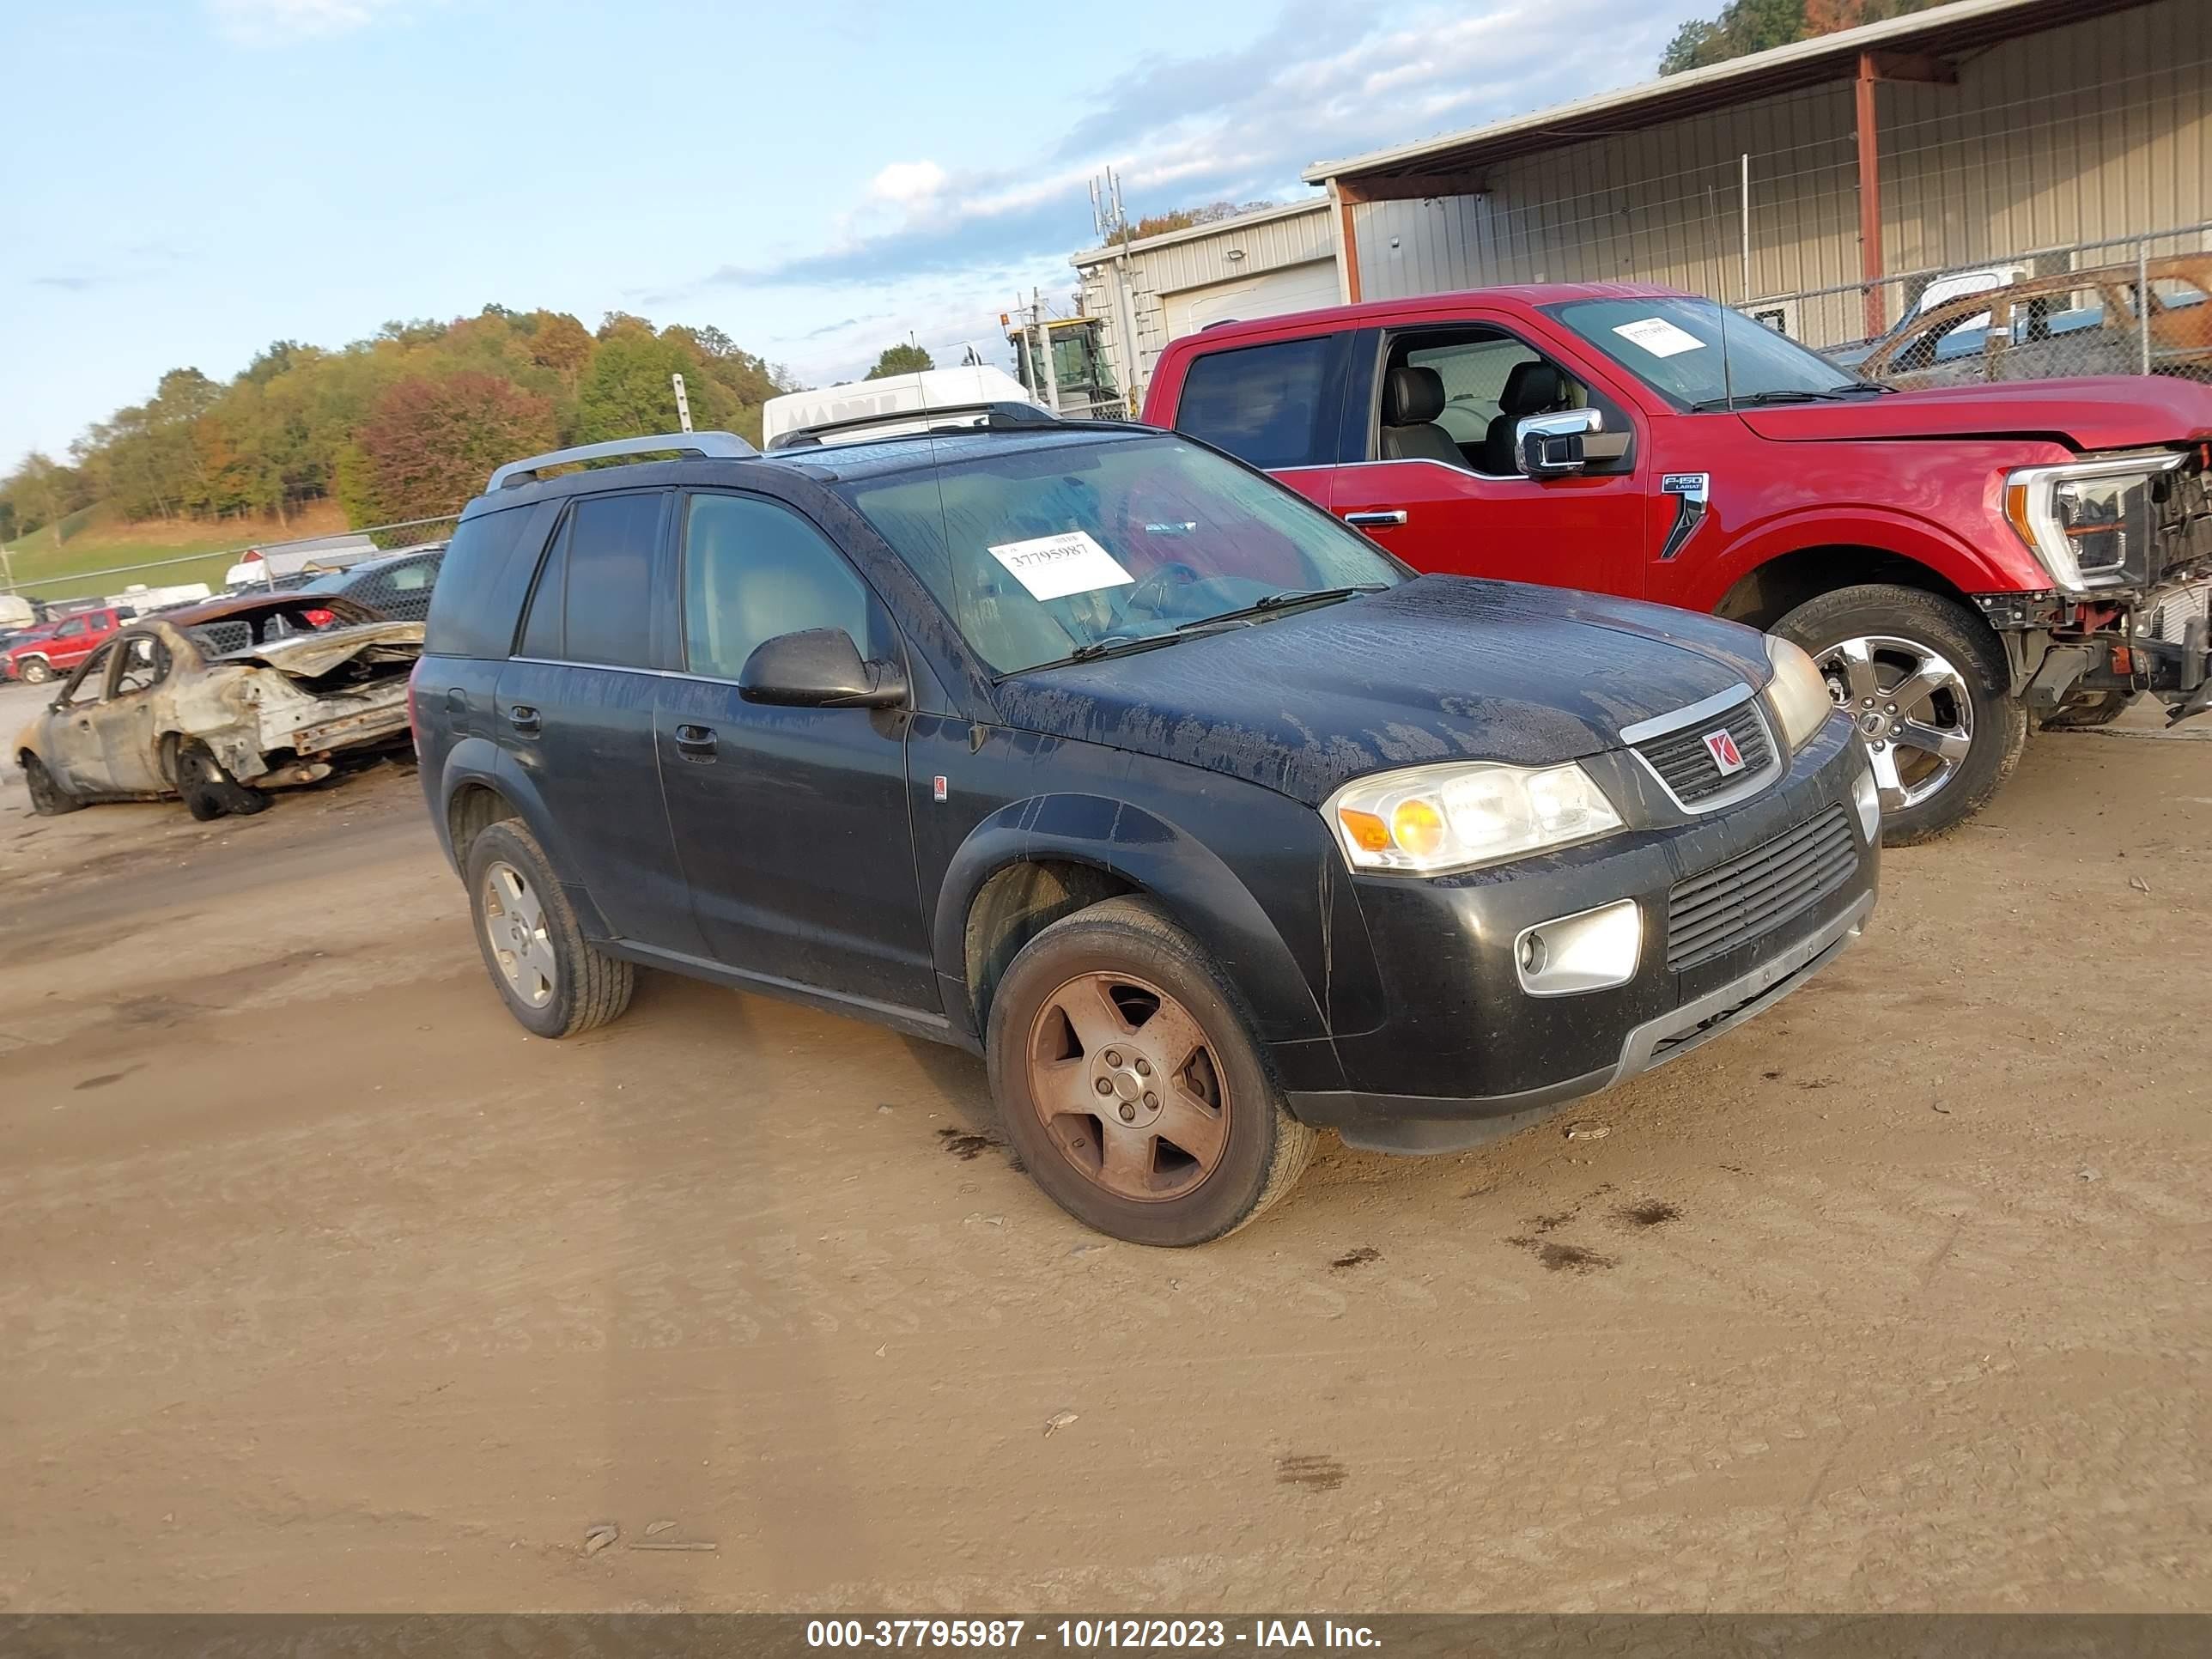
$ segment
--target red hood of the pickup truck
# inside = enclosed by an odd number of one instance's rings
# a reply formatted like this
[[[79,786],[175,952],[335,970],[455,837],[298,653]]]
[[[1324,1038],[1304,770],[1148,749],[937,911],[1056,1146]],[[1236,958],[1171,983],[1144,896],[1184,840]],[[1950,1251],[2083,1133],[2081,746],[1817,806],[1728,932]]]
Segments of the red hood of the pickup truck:
[[[1929,387],[1849,403],[1739,409],[1774,442],[1854,438],[2046,438],[2073,449],[2137,449],[2212,438],[2212,387],[2166,374]]]

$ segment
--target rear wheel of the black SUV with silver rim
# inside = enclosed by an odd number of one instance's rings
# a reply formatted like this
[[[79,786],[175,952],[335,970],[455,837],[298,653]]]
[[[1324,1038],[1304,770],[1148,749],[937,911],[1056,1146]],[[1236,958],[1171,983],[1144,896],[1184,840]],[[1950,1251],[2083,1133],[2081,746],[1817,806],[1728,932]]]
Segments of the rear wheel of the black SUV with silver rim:
[[[630,1006],[637,969],[591,945],[575,909],[520,818],[469,843],[476,947],[507,1011],[540,1037],[573,1037]]]

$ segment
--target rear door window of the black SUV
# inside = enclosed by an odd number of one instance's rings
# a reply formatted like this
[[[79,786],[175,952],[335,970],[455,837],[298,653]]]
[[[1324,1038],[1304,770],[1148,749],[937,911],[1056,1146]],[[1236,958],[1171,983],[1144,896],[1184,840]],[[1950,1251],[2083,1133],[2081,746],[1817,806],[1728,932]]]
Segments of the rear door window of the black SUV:
[[[586,495],[568,509],[531,595],[522,655],[646,668],[661,495]]]

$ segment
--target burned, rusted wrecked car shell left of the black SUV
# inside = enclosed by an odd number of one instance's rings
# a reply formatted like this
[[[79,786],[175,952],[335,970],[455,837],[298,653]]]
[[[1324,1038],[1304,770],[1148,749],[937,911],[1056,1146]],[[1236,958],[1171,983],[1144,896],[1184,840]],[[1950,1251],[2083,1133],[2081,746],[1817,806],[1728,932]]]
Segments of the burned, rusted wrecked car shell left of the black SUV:
[[[31,807],[181,796],[195,818],[259,812],[407,739],[420,622],[338,595],[263,593],[168,611],[84,659],[15,739]]]

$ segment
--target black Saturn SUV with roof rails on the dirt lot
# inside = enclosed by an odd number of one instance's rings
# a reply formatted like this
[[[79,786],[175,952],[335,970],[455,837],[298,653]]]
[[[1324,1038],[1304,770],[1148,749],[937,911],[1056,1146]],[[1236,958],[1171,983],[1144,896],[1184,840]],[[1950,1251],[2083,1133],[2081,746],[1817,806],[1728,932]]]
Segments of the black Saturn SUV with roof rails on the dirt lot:
[[[1416,577],[1206,445],[1009,405],[502,467],[411,708],[524,1026],[644,964],[971,1048],[1035,1181],[1155,1245],[1318,1128],[1460,1150],[1681,1055],[1874,909],[1796,646]]]

